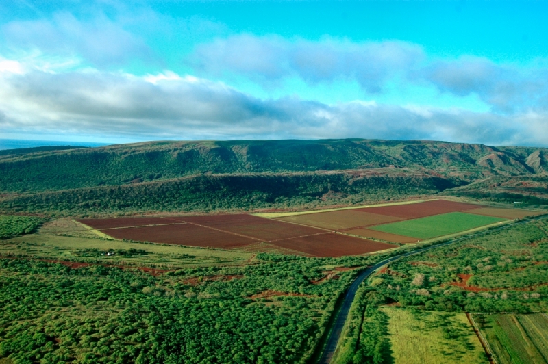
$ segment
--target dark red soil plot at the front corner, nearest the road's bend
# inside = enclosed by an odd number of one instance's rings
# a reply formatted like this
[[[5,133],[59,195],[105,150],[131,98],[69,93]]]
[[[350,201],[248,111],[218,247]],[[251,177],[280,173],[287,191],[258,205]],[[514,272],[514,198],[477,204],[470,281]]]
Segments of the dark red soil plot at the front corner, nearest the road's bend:
[[[373,242],[371,240],[336,233],[295,237],[292,239],[277,240],[270,244],[304,252],[315,257],[360,255],[397,247],[392,244]]]

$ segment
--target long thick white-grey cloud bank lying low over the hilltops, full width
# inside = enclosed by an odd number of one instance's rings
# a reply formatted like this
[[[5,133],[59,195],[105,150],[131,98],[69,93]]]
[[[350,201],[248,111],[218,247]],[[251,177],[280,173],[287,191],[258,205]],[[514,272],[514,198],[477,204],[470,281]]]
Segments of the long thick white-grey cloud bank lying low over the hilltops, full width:
[[[150,76],[147,76],[150,77]],[[0,73],[0,132],[114,139],[383,138],[548,146],[548,114],[257,99],[164,72]],[[152,82],[153,81],[153,82]]]

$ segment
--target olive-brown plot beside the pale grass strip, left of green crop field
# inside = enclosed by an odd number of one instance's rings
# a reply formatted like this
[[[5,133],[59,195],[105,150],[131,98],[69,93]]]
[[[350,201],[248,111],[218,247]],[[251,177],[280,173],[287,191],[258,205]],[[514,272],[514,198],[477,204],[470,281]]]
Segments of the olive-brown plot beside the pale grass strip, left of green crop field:
[[[386,224],[386,222],[398,221],[401,220],[401,218],[355,210],[340,210],[287,216],[285,218],[277,218],[276,220],[316,226],[323,229],[339,230],[354,226]]]

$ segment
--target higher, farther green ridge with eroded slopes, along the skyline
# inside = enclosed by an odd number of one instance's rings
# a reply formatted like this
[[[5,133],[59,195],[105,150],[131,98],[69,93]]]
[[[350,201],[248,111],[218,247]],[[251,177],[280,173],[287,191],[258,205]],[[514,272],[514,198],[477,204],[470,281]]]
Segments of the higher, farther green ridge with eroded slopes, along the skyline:
[[[47,149],[47,148],[46,148]],[[284,173],[363,168],[431,170],[453,181],[534,174],[543,149],[390,140],[148,142],[0,155],[0,191],[123,185],[201,173]],[[542,151],[542,152],[541,152]],[[11,153],[11,154],[10,154]],[[496,160],[495,160],[496,159]],[[539,167],[540,168],[540,167]]]

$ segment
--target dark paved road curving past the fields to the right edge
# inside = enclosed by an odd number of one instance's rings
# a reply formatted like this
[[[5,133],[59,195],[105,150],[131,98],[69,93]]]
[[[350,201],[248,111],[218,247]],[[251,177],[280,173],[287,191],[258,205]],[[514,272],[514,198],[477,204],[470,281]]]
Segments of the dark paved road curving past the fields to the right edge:
[[[480,231],[479,233],[474,233],[472,235],[466,235],[464,237],[458,237],[456,239],[449,240],[447,242],[436,244],[433,246],[427,246],[425,248],[419,249],[419,250],[413,250],[412,252],[404,252],[400,255],[395,255],[394,257],[390,257],[388,259],[384,259],[384,261],[380,261],[379,263],[367,268],[363,272],[360,273],[360,275],[352,282],[352,285],[348,289],[345,299],[343,301],[343,305],[340,307],[338,313],[336,314],[335,322],[333,324],[333,330],[329,334],[329,338],[327,339],[327,345],[325,346],[325,350],[323,350],[323,354],[321,356],[321,359],[319,361],[320,364],[329,364],[331,363],[331,359],[333,358],[333,354],[335,353],[335,350],[337,348],[338,341],[340,339],[340,334],[343,332],[343,326],[345,326],[345,322],[348,319],[348,313],[350,311],[350,306],[352,304],[352,301],[354,300],[354,297],[356,296],[356,291],[358,291],[358,287],[360,284],[365,281],[365,279],[371,275],[371,273],[375,272],[375,270],[382,268],[382,266],[391,263],[397,259],[403,258],[403,257],[409,257],[410,255],[419,254],[421,252],[425,252],[430,249],[439,248],[440,246],[445,246],[449,244],[453,244],[456,242],[460,242],[462,240],[471,239],[472,237],[477,237],[479,235],[484,235],[487,233],[493,233],[494,231],[499,231],[502,229],[508,229],[510,226],[516,226],[519,224],[525,224],[530,221],[538,220],[540,218],[545,218],[546,216],[538,216],[537,218],[533,218],[531,220],[525,220],[520,222],[514,222],[514,224],[506,224],[503,226],[498,227],[497,229],[492,230],[484,230]]]

